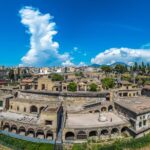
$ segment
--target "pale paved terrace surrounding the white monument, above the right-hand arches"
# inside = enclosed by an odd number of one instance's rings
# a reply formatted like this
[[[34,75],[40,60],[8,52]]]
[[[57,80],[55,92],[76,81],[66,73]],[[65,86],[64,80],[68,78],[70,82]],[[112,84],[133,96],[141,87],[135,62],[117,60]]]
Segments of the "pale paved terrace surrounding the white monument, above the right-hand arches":
[[[109,127],[127,123],[126,120],[123,120],[113,112],[105,112],[102,114],[106,117],[105,122],[98,120],[99,113],[68,114],[65,128]]]

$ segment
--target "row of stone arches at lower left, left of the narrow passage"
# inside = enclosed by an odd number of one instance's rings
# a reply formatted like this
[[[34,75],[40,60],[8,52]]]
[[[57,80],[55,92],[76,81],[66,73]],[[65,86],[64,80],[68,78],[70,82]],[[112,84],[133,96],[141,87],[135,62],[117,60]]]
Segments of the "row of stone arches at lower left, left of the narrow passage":
[[[12,132],[12,133],[16,133],[16,134],[20,134],[23,136],[33,137],[33,138],[53,140],[53,132],[51,130],[48,130],[45,133],[41,129],[35,131],[33,128],[26,129],[24,126],[17,128],[16,125],[10,126],[9,123],[5,123],[3,125],[3,130]]]

